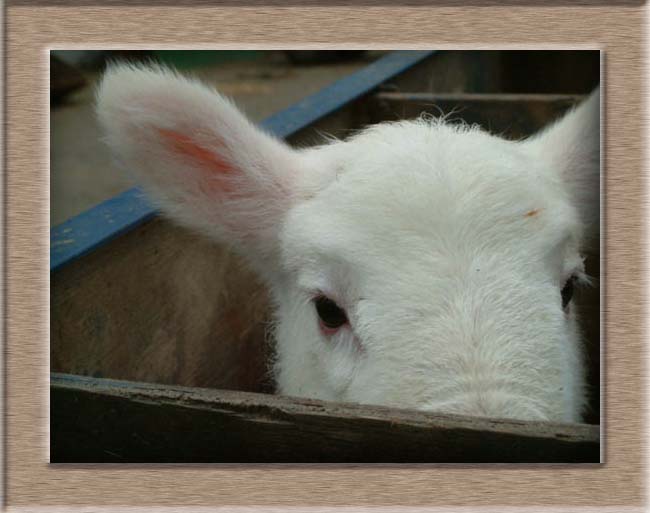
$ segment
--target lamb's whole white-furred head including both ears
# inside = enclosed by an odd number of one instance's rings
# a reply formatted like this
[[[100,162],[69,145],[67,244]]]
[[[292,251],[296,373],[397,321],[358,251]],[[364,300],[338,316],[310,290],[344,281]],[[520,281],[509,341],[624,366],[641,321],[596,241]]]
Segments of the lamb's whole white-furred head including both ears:
[[[203,85],[120,66],[98,113],[165,212],[232,243],[267,281],[280,393],[578,421],[581,343],[560,290],[583,274],[598,225],[598,95],[523,142],[418,120],[297,151]],[[350,319],[332,336],[321,293]]]

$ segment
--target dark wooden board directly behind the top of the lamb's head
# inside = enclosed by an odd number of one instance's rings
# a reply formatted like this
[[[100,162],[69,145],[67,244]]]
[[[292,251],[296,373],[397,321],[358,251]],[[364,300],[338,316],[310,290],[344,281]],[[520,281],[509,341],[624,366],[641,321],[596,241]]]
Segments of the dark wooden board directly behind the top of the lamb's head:
[[[580,95],[392,93],[375,95],[376,121],[423,113],[478,124],[509,139],[529,136],[578,103]]]

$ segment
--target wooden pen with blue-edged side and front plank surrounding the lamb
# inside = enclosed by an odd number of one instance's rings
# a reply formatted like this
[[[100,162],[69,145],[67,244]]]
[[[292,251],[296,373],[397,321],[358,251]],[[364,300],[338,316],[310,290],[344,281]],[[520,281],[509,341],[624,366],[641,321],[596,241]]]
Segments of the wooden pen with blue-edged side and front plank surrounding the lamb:
[[[577,58],[543,53],[531,57],[540,66]],[[319,131],[344,137],[457,109],[455,117],[521,138],[597,83],[598,68],[588,65],[597,52],[582,54],[591,81],[561,75],[556,90],[527,94],[517,92],[526,88],[509,52],[392,52],[263,125],[306,145]],[[597,247],[588,272],[599,276]],[[598,287],[578,301],[590,424],[271,395],[263,287],[227,249],[157,217],[130,190],[52,229],[51,462],[597,463]]]

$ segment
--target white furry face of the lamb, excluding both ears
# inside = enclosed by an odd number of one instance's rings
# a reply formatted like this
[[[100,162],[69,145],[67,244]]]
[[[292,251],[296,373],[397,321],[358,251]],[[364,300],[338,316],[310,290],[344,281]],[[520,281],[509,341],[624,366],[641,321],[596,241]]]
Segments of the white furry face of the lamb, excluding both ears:
[[[543,163],[519,144],[422,122],[308,158],[336,179],[282,231],[283,393],[576,419],[568,299],[582,234]]]

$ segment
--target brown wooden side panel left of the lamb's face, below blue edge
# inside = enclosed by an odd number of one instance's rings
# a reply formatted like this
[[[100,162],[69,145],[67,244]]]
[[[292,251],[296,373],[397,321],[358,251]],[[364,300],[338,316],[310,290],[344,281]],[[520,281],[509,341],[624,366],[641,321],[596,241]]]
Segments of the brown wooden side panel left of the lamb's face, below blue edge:
[[[54,372],[268,390],[266,291],[226,247],[155,219],[51,279]]]

